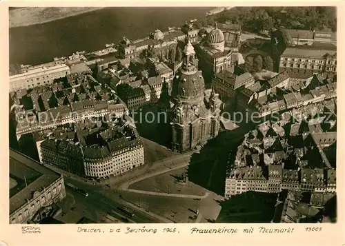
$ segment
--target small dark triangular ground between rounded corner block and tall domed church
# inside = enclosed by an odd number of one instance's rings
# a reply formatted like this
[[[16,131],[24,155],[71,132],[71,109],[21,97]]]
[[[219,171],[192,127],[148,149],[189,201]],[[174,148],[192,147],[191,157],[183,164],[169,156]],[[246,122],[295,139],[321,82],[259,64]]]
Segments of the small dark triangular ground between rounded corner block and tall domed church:
[[[145,163],[154,163],[155,161],[178,155],[168,148],[148,139],[142,138],[142,141],[144,145]]]

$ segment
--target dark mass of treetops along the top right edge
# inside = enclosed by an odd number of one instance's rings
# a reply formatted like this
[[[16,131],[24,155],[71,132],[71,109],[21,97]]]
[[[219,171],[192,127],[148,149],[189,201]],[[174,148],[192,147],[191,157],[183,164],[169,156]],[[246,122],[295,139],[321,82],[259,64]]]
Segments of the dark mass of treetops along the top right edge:
[[[206,16],[201,25],[214,25],[215,21],[231,21],[242,26],[242,30],[262,32],[275,28],[303,30],[337,30],[335,7],[236,7]]]

